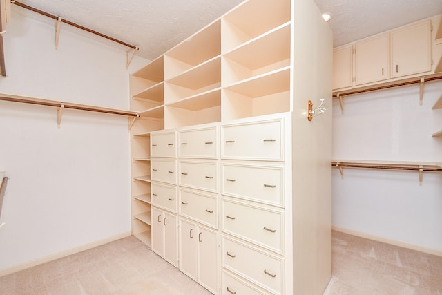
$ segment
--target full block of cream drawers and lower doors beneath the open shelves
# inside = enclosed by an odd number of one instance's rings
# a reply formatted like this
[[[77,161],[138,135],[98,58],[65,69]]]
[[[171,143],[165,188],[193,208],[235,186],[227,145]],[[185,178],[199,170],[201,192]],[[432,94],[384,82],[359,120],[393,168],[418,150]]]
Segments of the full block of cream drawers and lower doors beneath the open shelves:
[[[151,133],[152,249],[213,294],[286,294],[289,122]]]

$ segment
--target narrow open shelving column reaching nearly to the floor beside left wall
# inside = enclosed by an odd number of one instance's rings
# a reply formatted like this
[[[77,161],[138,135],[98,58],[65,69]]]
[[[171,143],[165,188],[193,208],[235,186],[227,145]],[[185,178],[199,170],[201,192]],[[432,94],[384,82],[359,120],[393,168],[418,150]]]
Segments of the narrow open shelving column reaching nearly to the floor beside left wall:
[[[132,234],[151,247],[150,132],[164,129],[164,59],[131,75],[131,110],[140,112],[131,128]]]

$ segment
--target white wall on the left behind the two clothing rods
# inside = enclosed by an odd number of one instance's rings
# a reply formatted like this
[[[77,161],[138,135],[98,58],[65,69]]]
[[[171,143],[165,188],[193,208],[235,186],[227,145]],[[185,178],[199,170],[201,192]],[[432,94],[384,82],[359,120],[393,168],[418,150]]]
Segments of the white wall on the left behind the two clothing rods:
[[[126,50],[13,8],[0,93],[129,108]],[[128,117],[0,102],[0,171],[10,178],[0,222],[0,272],[130,234]]]

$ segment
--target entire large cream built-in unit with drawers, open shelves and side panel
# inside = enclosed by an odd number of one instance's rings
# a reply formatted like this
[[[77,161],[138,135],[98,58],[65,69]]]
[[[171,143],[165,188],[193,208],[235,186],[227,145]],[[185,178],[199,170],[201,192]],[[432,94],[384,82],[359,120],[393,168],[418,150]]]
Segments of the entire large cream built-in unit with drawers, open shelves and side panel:
[[[244,1],[134,73],[152,249],[167,252],[175,218],[180,269],[214,294],[322,294],[331,113],[305,113],[307,99],[331,107],[331,73],[332,32],[312,0]]]

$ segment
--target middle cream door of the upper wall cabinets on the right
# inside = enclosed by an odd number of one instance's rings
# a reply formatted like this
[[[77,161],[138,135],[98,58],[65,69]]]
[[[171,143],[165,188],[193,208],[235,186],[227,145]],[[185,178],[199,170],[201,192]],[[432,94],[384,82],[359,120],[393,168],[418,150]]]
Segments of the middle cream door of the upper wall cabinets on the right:
[[[390,38],[388,34],[356,43],[356,84],[390,78]]]

